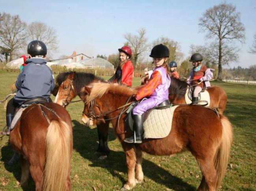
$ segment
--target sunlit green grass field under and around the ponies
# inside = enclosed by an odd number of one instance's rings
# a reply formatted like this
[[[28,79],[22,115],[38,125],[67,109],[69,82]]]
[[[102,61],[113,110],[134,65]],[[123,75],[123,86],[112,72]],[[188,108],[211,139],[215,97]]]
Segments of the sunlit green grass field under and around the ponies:
[[[10,85],[17,73],[0,71],[0,100],[11,93]],[[134,78],[134,86],[139,78]],[[226,115],[234,128],[234,144],[230,153],[227,172],[221,190],[256,190],[256,85],[211,82],[224,88],[228,95]],[[54,97],[52,97],[54,99]],[[78,98],[76,98],[78,100]],[[76,102],[67,107],[73,123],[74,152],[72,156],[71,184],[77,191],[120,190],[127,180],[125,155],[121,144],[115,138],[113,128],[109,129],[111,153],[106,160],[98,160],[97,130],[84,126],[81,121],[83,104]],[[6,124],[4,104],[0,104],[0,126]],[[196,117],[196,116],[195,116]],[[20,163],[7,166],[13,155],[9,138],[0,138],[0,191],[19,191]],[[143,155],[144,182],[137,184],[134,191],[188,191],[196,190],[200,184],[201,172],[195,158],[184,152],[175,156]],[[26,190],[33,190],[30,182]]]

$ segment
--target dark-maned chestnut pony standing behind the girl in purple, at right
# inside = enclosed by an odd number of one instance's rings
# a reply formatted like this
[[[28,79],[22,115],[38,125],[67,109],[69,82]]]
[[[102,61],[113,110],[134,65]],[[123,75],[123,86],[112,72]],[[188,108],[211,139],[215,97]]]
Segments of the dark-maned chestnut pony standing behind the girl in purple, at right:
[[[142,85],[146,84],[148,78],[144,78]],[[185,93],[188,88],[188,84],[185,81],[171,78],[171,84],[169,87],[169,100],[173,104],[186,104]],[[207,88],[210,95],[210,106],[217,108],[219,114],[223,114],[226,109],[227,95],[226,92],[219,86],[211,86]]]

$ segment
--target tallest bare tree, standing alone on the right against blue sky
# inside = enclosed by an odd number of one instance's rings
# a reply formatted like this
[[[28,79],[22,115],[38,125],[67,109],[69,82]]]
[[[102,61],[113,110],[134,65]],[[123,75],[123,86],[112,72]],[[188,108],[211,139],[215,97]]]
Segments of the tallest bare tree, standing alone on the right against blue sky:
[[[218,80],[222,80],[222,65],[228,64],[232,60],[226,60],[223,62],[225,54],[234,55],[237,49],[229,48],[228,51],[225,48],[229,47],[228,43],[238,40],[244,42],[245,40],[245,27],[240,22],[240,13],[236,12],[236,7],[232,4],[219,4],[206,12],[199,20],[199,27],[202,32],[207,32],[207,39],[214,39],[214,48],[217,48],[218,58]],[[225,44],[225,45],[224,45]],[[232,58],[232,56],[226,56],[226,58]]]

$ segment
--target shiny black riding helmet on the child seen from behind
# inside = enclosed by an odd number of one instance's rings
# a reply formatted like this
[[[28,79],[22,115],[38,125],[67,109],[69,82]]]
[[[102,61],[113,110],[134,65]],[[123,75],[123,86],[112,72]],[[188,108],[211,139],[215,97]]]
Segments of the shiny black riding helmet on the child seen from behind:
[[[31,56],[47,55],[47,47],[40,40],[33,40],[28,44],[28,54]]]

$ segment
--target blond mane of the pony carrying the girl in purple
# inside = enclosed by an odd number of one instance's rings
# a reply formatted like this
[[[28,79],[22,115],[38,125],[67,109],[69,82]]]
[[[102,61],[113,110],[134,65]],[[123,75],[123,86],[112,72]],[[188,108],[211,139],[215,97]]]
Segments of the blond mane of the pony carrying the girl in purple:
[[[86,103],[88,104],[95,98],[101,98],[106,93],[115,93],[117,95],[131,96],[137,93],[136,89],[124,85],[115,85],[112,83],[93,83],[90,95],[87,97]]]

